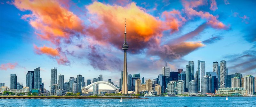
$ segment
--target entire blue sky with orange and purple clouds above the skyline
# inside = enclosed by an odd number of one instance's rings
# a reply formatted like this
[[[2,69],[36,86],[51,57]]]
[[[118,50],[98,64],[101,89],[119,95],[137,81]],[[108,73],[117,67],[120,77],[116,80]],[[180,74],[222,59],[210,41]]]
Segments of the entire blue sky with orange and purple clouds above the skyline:
[[[167,62],[185,71],[188,61],[227,61],[228,74],[256,76],[254,0],[12,0],[0,1],[0,83],[10,74],[26,86],[41,68],[46,89],[51,68],[64,80],[100,74],[119,85],[124,20],[127,72],[155,79]]]

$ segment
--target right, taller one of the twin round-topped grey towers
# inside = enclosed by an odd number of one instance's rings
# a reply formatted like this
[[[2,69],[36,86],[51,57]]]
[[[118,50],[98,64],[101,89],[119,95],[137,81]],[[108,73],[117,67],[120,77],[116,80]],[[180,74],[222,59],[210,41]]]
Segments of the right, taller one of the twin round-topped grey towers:
[[[220,88],[225,88],[225,77],[227,74],[227,62],[225,60],[220,61]]]

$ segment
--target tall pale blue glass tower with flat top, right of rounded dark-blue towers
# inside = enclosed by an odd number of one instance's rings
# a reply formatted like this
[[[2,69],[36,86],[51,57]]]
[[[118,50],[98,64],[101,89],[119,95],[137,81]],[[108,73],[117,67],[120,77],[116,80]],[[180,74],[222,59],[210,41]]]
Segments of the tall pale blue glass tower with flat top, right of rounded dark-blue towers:
[[[205,75],[205,62],[204,61],[197,61],[197,71],[198,71],[198,81],[197,81],[198,91],[202,92],[201,91],[202,82],[203,82],[203,77]]]

